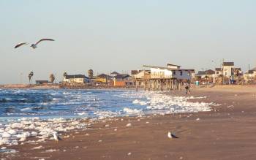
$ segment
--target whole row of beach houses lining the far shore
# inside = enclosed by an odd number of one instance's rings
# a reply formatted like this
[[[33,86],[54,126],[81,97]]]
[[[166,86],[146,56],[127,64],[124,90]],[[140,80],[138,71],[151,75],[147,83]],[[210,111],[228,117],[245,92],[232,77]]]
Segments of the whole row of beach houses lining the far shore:
[[[178,89],[184,83],[196,85],[252,83],[256,78],[256,68],[243,73],[234,62],[223,62],[219,68],[195,73],[195,69],[184,69],[180,65],[166,66],[143,65],[143,69],[132,70],[130,74],[111,72],[94,75],[89,69],[86,75],[64,73],[62,85],[92,85],[113,87],[143,87],[145,90]],[[40,81],[38,81],[40,82]]]

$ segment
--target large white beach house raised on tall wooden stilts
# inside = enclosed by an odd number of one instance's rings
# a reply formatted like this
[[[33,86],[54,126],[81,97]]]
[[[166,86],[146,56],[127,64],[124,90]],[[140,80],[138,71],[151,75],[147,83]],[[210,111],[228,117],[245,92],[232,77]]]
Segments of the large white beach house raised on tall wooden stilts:
[[[144,89],[148,89],[148,91],[151,88],[154,91],[180,89],[184,82],[190,83],[192,72],[195,72],[195,69],[181,69],[181,66],[175,64],[167,64],[167,66],[143,65],[143,67],[150,69],[150,76],[144,78],[135,76],[136,90],[138,90],[141,82],[144,84]]]

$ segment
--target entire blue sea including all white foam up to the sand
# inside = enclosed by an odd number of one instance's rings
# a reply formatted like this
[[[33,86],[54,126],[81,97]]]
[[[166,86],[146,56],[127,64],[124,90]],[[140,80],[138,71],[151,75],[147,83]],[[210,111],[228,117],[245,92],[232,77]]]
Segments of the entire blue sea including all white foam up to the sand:
[[[188,101],[203,98],[111,89],[0,89],[0,146],[31,142],[29,137],[36,137],[31,143],[44,142],[53,132],[89,129],[105,118],[210,111],[213,103]]]

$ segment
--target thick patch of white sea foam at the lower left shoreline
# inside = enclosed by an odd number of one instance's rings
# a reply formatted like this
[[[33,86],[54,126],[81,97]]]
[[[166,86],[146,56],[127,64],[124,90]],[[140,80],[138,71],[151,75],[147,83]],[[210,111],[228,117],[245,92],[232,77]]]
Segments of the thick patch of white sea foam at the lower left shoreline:
[[[0,146],[18,145],[18,142],[36,142],[30,141],[29,137],[36,137],[37,142],[44,142],[53,137],[53,132],[68,132],[86,128],[86,123],[76,119],[51,118],[40,120],[39,118],[21,118],[5,125],[5,128],[2,129],[4,132],[0,133]],[[26,129],[32,131],[28,132]]]

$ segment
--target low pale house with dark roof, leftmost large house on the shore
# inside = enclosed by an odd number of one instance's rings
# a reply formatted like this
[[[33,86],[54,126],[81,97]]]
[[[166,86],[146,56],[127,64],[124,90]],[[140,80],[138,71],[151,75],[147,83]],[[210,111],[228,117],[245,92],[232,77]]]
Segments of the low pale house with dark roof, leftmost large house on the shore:
[[[63,83],[69,84],[85,84],[89,81],[89,77],[85,75],[65,75]]]

